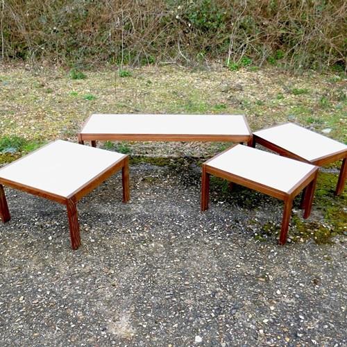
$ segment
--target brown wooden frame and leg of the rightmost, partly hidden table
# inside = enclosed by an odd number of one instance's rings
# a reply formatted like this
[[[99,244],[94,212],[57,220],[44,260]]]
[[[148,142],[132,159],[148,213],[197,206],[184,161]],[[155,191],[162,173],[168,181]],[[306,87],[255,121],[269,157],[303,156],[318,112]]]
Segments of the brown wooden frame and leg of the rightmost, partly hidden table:
[[[293,141],[295,141],[295,139],[293,139]],[[335,195],[340,195],[344,191],[347,176],[347,149],[344,151],[331,153],[329,155],[324,155],[319,158],[314,158],[314,160],[307,160],[296,153],[292,153],[291,151],[288,151],[287,149],[278,146],[277,144],[273,144],[272,142],[267,141],[261,136],[253,134],[252,146],[255,147],[255,144],[261,144],[267,149],[270,149],[271,151],[274,151],[287,158],[300,160],[301,162],[307,162],[308,164],[316,165],[318,167],[322,167],[325,164],[330,164],[331,162],[337,162],[338,160],[342,160],[339,178],[337,180],[337,186],[335,189]]]

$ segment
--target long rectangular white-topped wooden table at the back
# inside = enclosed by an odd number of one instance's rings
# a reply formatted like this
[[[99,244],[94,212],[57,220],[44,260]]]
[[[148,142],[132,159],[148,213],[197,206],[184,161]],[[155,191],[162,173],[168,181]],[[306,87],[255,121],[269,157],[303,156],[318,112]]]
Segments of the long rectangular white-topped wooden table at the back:
[[[251,144],[252,133],[243,115],[91,115],[78,142],[230,141]]]

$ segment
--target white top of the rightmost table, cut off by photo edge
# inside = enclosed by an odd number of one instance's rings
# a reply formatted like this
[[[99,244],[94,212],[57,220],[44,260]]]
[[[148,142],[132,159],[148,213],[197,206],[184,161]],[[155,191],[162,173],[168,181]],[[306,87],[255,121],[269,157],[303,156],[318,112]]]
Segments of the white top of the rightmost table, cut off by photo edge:
[[[345,144],[292,123],[255,131],[254,135],[310,162],[325,155],[347,151]]]

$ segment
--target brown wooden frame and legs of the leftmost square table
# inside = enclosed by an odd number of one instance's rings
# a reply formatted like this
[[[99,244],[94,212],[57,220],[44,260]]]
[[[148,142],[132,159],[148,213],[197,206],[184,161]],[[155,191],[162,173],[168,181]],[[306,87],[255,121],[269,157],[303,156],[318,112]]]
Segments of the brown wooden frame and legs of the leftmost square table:
[[[40,151],[40,149],[38,149],[37,151]],[[108,179],[120,169],[122,174],[121,177],[123,186],[123,202],[127,203],[130,198],[128,155],[125,155],[124,158],[121,158],[119,161],[110,165],[110,167],[100,172],[100,174],[95,176],[89,182],[85,183],[85,185],[83,185],[82,187],[76,189],[75,192],[67,197],[52,194],[51,192],[45,192],[41,189],[28,187],[26,185],[16,183],[12,180],[0,178],[0,218],[3,223],[6,223],[10,220],[10,212],[8,210],[8,204],[6,201],[5,192],[3,190],[3,185],[7,185],[8,187],[19,189],[29,194],[41,196],[42,198],[47,198],[49,200],[56,201],[57,203],[61,203],[62,205],[66,205],[67,218],[69,220],[71,248],[73,250],[76,250],[81,245],[80,226],[78,223],[78,212],[76,206],[78,201],[93,189],[101,185],[101,183],[103,183],[106,179]]]

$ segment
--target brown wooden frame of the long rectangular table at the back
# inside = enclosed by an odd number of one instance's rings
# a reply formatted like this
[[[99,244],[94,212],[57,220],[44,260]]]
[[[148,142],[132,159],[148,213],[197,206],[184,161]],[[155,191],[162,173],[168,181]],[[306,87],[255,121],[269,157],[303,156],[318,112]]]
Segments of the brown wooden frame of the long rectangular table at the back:
[[[90,115],[88,119],[85,121],[84,126],[90,121],[91,117],[94,115]],[[116,115],[117,116],[117,115]],[[160,115],[158,115],[160,116]],[[211,115],[212,116],[212,115]],[[198,115],[194,115],[194,117],[198,118]],[[214,115],[214,117],[218,117],[218,115]],[[230,115],[230,117],[233,117]],[[179,142],[179,141],[187,141],[187,142],[245,142],[248,146],[253,144],[252,141],[252,132],[251,128],[249,128],[246,117],[242,115],[244,119],[245,126],[248,130],[248,134],[244,135],[212,135],[212,134],[173,134],[173,133],[78,133],[78,143],[84,144],[85,141],[90,141],[93,147],[96,147],[96,141],[167,141],[167,142]],[[198,120],[198,119],[196,119]],[[83,128],[84,128],[83,126]],[[198,128],[198,126],[196,126]]]

